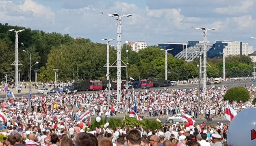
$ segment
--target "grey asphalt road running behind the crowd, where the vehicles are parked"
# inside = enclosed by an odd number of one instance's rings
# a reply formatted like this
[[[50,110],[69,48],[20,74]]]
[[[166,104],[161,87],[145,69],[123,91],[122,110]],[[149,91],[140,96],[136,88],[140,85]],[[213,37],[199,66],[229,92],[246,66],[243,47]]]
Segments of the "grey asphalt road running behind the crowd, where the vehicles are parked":
[[[216,87],[222,87],[222,85],[225,85],[228,89],[229,88],[232,88],[232,87],[236,87],[236,86],[245,86],[245,84],[247,86],[249,86],[249,84],[254,84],[254,83],[251,83],[250,80],[243,80],[243,81],[236,81],[236,82],[222,82],[222,84],[211,84],[211,85],[207,85],[206,87],[210,87],[212,85],[215,85]],[[150,88],[152,90],[161,90],[161,89],[164,89],[165,87],[154,87],[154,88]],[[190,88],[198,88],[198,84],[184,84],[184,85],[178,85],[178,86],[171,86],[171,87],[166,87],[168,89],[190,89]],[[201,89],[203,88],[203,85],[201,84]],[[50,89],[49,89],[50,90]],[[139,89],[134,89],[134,90],[141,90],[140,88]],[[12,90],[11,90],[12,91]],[[22,93],[17,93],[17,91],[13,91],[14,92],[14,95],[15,95],[15,98],[19,98],[19,97],[29,97],[29,90],[28,89],[23,89],[22,90]],[[98,92],[98,91],[81,91],[81,92],[78,92],[78,93],[84,93],[84,92]],[[53,95],[55,93],[48,93],[48,95]],[[39,95],[37,94],[37,90],[36,89],[33,89],[32,90],[32,95]],[[10,96],[9,96],[10,97]],[[8,98],[9,98],[8,97]],[[0,99],[3,99],[5,98],[5,94],[0,94]]]

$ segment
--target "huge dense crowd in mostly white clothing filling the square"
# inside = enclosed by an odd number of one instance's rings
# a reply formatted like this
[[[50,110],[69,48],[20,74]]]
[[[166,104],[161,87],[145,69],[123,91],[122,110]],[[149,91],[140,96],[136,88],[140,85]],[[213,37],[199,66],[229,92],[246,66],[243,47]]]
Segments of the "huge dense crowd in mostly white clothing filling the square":
[[[64,86],[65,84],[52,84],[53,86]],[[44,84],[48,86],[48,84]],[[254,85],[245,87],[254,99]],[[197,88],[174,89],[165,88],[159,90],[130,90],[128,92],[128,110],[134,110],[139,115],[165,118],[166,116],[185,113],[194,118],[224,118],[224,111],[229,104],[236,112],[249,107],[254,107],[252,100],[232,102],[223,100],[227,88],[223,86],[212,86],[204,94]],[[200,94],[200,105],[197,105],[197,95]],[[91,120],[80,120],[83,112],[89,110],[91,116],[115,116],[127,112],[125,94],[117,101],[115,92],[109,103],[108,92],[84,92],[76,94],[61,94],[47,96],[33,96],[31,105],[29,99],[10,98],[1,102],[1,111],[7,118],[1,122],[2,135],[9,135],[2,142],[5,146],[108,146],[109,145],[142,145],[142,146],[208,146],[213,143],[220,146],[226,143],[228,125],[217,127],[202,124],[186,129],[184,125],[165,125],[162,129],[143,129],[143,127],[118,127],[112,130],[111,125],[106,129],[98,127],[86,133],[78,125],[82,122],[89,126]],[[200,113],[197,114],[197,107]],[[115,135],[118,132],[118,135]],[[138,136],[139,135],[139,136]],[[65,141],[65,142],[64,142]],[[220,145],[219,145],[220,144]],[[86,145],[87,146],[87,145]]]

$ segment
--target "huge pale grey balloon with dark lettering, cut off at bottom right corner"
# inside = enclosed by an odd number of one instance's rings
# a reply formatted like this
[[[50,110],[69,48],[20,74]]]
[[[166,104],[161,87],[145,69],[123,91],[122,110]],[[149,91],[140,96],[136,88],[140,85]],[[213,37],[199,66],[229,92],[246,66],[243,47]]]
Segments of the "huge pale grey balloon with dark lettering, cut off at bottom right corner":
[[[228,127],[228,146],[255,146],[256,143],[256,108],[239,112]]]

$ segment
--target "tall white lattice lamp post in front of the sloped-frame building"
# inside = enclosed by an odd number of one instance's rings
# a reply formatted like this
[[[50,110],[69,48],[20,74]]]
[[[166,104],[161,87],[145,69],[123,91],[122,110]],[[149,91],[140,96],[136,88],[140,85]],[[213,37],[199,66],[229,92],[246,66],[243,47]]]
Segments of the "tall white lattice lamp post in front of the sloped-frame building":
[[[207,73],[206,73],[206,68],[207,68],[207,62],[206,62],[206,53],[207,53],[207,31],[208,30],[215,30],[215,28],[197,28],[194,26],[191,26],[191,28],[195,28],[196,30],[203,30],[204,33],[204,83],[203,83],[203,91],[204,91],[204,95],[206,94],[206,77],[207,77]]]

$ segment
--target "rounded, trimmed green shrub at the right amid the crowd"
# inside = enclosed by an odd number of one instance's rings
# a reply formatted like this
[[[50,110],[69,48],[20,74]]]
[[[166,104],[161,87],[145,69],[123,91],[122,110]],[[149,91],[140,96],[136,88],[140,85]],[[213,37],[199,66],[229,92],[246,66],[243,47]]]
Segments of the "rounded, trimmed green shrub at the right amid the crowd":
[[[243,87],[234,87],[227,90],[224,100],[228,100],[230,102],[232,101],[249,101],[250,99],[250,93],[247,89]]]

